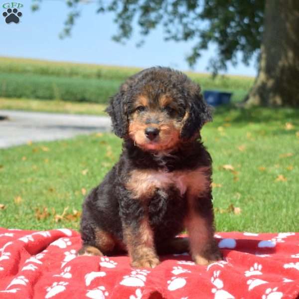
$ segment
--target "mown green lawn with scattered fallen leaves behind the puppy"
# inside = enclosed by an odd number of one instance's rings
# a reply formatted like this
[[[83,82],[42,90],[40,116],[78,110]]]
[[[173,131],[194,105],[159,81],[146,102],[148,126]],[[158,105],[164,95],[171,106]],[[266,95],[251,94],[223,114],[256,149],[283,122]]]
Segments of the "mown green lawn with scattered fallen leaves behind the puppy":
[[[222,108],[202,130],[214,160],[218,231],[299,231],[298,115]],[[1,149],[0,226],[78,229],[84,195],[120,151],[111,134]]]

